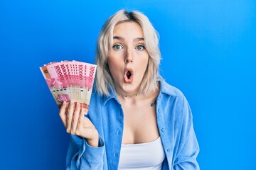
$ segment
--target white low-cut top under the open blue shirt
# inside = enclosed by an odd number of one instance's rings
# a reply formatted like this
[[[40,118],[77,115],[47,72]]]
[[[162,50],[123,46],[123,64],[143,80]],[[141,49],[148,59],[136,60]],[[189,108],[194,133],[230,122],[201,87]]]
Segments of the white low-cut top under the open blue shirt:
[[[162,168],[165,157],[161,137],[152,142],[122,144],[118,169],[159,170]]]

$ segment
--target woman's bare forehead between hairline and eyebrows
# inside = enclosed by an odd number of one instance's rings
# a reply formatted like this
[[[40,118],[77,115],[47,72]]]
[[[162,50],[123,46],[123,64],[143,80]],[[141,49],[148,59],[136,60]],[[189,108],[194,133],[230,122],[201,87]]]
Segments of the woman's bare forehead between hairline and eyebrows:
[[[142,26],[133,21],[118,23],[114,27],[113,35],[123,38],[144,38]]]

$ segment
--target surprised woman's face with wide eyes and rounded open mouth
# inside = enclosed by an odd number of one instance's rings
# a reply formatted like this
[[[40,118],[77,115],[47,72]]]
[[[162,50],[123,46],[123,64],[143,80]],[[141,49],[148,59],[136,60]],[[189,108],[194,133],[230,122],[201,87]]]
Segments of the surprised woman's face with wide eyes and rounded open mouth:
[[[124,22],[114,27],[107,62],[116,90],[126,95],[137,94],[149,62],[139,23]]]

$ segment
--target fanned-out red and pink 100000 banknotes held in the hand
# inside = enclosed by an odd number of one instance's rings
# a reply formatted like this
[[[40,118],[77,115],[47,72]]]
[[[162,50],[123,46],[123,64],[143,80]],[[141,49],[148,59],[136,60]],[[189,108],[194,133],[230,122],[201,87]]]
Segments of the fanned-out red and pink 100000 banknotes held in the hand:
[[[89,108],[97,65],[78,61],[50,62],[40,67],[58,107],[63,101]]]

